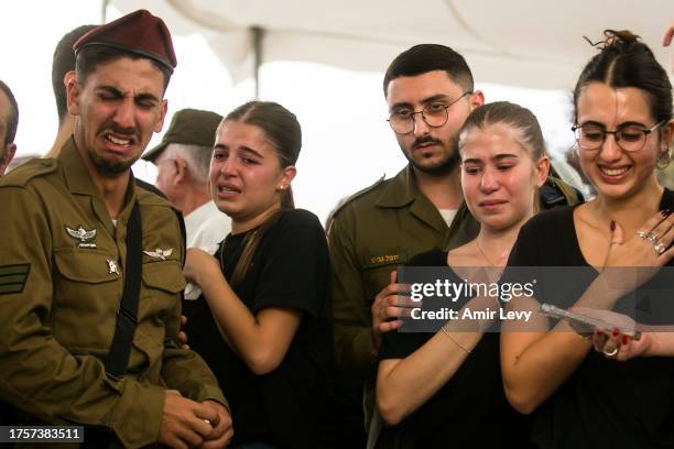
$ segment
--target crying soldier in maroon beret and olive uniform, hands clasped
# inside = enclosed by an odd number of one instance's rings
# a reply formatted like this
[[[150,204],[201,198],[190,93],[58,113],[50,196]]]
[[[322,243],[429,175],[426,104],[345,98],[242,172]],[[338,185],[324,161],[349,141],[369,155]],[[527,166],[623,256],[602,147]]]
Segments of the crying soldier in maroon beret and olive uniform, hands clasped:
[[[177,341],[177,211],[131,173],[166,114],[171,34],[137,11],[74,50],[73,138],[0,180],[1,424],[83,425],[91,447],[224,447],[225,397]]]

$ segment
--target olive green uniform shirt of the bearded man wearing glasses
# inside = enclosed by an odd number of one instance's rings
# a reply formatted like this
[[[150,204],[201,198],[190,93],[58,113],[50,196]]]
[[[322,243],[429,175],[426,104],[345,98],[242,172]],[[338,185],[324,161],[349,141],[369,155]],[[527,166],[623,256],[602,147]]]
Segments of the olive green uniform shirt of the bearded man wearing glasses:
[[[551,177],[541,199],[550,208],[575,204],[577,196]],[[333,217],[328,243],[335,358],[341,377],[337,382],[349,383],[341,393],[355,398],[360,396],[355,387],[362,387],[373,373],[377,354],[372,352],[370,308],[377,294],[390,284],[391,271],[435,247],[450,250],[467,243],[477,236],[479,223],[464,204],[448,227],[416,186],[410,165],[395,177],[380,179],[354,195]]]

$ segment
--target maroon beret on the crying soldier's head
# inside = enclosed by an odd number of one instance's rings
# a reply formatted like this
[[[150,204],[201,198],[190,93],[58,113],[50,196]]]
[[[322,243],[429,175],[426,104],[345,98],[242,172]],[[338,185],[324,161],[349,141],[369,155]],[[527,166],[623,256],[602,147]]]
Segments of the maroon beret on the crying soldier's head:
[[[73,50],[102,45],[149,57],[165,66],[171,73],[177,65],[171,33],[160,18],[149,11],[138,10],[110,23],[89,31],[75,42]]]

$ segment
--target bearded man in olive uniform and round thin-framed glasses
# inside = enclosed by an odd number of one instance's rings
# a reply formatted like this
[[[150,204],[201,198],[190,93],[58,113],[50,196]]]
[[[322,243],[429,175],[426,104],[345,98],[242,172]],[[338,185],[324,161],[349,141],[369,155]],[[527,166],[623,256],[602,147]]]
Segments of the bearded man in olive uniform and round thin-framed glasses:
[[[383,91],[388,122],[409,164],[355,194],[334,212],[328,229],[338,364],[335,414],[344,423],[336,434],[348,447],[365,446],[363,385],[374,374],[382,332],[398,328],[394,317],[405,307],[389,286],[394,271],[414,254],[456,248],[478,231],[459,186],[457,138],[485,97],[475,89],[464,57],[444,45],[416,45],[391,63]],[[548,182],[541,198],[544,208],[578,199],[558,180]]]

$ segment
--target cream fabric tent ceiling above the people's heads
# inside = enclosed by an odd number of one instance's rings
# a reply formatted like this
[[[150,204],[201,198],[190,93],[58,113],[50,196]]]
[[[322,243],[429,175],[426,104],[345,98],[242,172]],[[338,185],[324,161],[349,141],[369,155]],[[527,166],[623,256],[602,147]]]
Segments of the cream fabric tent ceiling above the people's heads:
[[[570,89],[605,29],[641,35],[670,67],[662,34],[673,0],[112,0],[139,7],[177,34],[203,34],[235,80],[252,74],[250,29],[264,30],[262,61],[308,61],[382,72],[417,43],[449,45],[475,78],[502,85]]]

